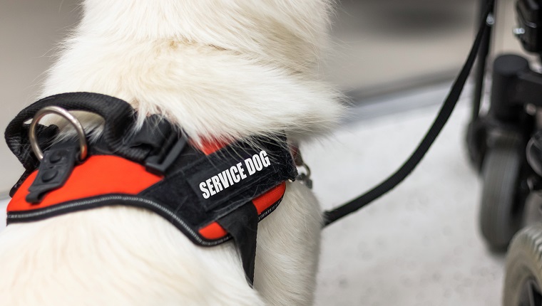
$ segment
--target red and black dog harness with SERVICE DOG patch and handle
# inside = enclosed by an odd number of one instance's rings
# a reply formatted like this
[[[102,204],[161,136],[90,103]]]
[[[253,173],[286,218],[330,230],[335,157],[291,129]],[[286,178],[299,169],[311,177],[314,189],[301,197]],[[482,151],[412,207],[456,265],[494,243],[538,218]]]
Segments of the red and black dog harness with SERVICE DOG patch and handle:
[[[103,117],[100,136],[87,145],[67,110]],[[70,120],[78,139],[53,144],[58,127],[38,124],[48,113]],[[131,105],[96,93],[53,95],[22,110],[5,134],[25,168],[10,193],[8,224],[102,206],[149,209],[199,246],[233,238],[252,285],[257,223],[277,208],[285,181],[297,175],[285,137],[196,146],[157,115],[138,132],[135,125]]]

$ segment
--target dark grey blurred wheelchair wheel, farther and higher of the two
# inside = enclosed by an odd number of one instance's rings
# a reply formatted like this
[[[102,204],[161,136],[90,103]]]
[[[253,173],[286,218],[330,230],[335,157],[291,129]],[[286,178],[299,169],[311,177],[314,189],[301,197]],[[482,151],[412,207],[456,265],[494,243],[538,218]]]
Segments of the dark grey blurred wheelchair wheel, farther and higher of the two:
[[[525,199],[521,196],[524,149],[515,133],[499,134],[486,152],[482,167],[480,227],[494,250],[504,250],[521,224]]]

